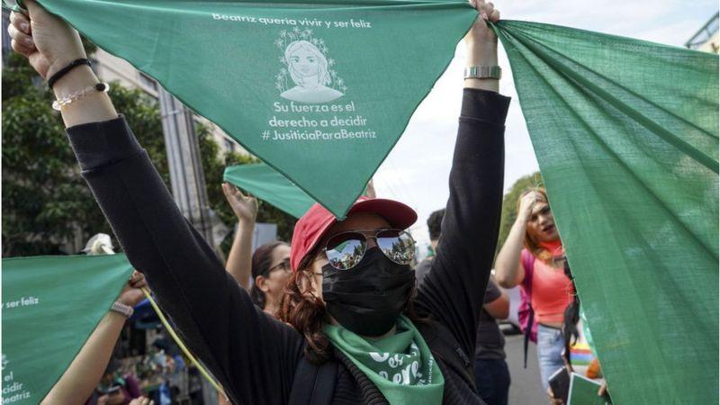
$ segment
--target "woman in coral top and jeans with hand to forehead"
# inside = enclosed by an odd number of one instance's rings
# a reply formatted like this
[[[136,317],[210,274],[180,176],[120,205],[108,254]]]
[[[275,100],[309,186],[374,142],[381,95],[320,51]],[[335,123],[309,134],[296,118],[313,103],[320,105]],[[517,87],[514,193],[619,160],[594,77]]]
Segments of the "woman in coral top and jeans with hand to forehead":
[[[518,219],[495,261],[495,278],[505,288],[520,284],[530,293],[537,327],[537,360],[543,388],[563,362],[563,313],[574,290],[563,272],[560,235],[545,189],[524,193],[518,201]]]

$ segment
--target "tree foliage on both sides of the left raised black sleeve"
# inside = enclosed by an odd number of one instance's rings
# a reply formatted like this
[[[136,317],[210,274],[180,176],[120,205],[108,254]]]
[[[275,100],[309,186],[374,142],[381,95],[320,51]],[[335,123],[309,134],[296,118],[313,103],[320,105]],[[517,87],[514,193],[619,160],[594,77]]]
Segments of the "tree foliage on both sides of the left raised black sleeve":
[[[8,57],[2,76],[3,257],[75,253],[61,252],[65,241],[112,234],[111,229],[80,175],[62,119],[50,106],[53,94],[24,58]],[[111,85],[110,95],[169,187],[157,101],[118,84]],[[209,128],[199,125],[197,132],[211,209],[232,227],[237,220],[220,188],[224,167],[257,160],[238,153],[220,157]],[[261,205],[258,221],[277,223],[285,240],[292,234],[293,218],[268,204]]]

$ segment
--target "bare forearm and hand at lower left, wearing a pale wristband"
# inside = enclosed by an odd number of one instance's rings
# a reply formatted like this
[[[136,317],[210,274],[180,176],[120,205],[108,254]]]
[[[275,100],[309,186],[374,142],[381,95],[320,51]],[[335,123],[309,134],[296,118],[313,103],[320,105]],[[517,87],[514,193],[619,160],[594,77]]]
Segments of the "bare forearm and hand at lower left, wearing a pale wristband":
[[[144,287],[145,277],[135,272],[130,281],[122,289],[117,302],[134,307],[145,297],[140,291]],[[103,372],[110,362],[122,327],[127,318],[115,311],[108,311],[100,320],[92,335],[75,356],[73,362],[62,374],[58,383],[53,385],[48,395],[40,403],[51,405],[56,403],[80,404],[90,398],[95,387],[103,378]]]

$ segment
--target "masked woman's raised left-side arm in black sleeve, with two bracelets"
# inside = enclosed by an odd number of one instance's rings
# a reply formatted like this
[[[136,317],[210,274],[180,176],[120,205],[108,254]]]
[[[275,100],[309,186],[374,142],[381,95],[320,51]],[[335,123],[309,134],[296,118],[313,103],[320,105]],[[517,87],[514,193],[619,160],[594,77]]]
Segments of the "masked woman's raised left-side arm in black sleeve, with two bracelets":
[[[14,49],[48,77],[83,58],[77,32],[32,1],[27,18],[13,15]],[[21,46],[20,44],[25,45]],[[257,310],[175,205],[162,179],[108,96],[92,91],[97,77],[76,67],[54,87],[83,176],[130,263],[147,277],[157,301],[188,347],[240,403],[287,401],[302,337]]]

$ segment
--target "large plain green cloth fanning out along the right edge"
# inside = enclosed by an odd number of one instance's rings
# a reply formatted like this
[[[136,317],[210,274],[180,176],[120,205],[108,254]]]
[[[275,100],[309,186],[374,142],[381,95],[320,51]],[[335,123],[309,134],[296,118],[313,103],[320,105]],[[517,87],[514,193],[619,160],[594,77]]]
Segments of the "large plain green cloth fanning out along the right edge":
[[[497,28],[613,401],[717,403],[717,56]]]

